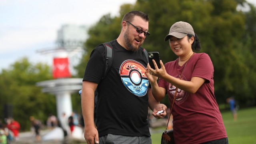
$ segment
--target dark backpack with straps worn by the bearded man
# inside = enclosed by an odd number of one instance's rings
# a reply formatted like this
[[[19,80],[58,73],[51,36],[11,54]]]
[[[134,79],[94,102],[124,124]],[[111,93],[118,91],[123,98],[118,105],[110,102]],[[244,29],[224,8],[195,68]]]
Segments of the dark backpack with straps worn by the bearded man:
[[[101,44],[100,44],[101,45]],[[99,45],[99,46],[100,46]],[[106,75],[108,74],[108,71],[111,68],[112,62],[113,62],[113,56],[114,56],[114,51],[112,50],[112,45],[110,44],[110,42],[105,42],[102,44],[105,48],[105,58],[106,58],[106,62],[105,62],[105,72],[104,75],[102,77],[101,80],[103,80]],[[97,46],[98,47],[98,46]],[[95,50],[95,49],[94,49]],[[94,51],[93,50],[93,51]],[[140,48],[140,50],[143,51],[144,55],[146,56],[147,62],[148,62],[148,52],[145,48]],[[93,53],[92,51],[92,53]],[[92,54],[91,53],[91,54]],[[79,95],[81,97],[81,93],[82,90],[79,90]],[[94,92],[94,122],[96,123],[96,108],[97,108],[97,102],[98,102],[98,90],[96,88],[95,92]]]

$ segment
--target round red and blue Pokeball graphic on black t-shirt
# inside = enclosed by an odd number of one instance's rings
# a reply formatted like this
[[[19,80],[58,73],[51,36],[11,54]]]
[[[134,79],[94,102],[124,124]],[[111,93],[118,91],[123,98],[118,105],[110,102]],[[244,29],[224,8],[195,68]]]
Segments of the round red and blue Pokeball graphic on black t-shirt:
[[[126,60],[120,67],[119,74],[124,86],[137,96],[144,96],[148,90],[148,78],[145,67],[134,60]]]

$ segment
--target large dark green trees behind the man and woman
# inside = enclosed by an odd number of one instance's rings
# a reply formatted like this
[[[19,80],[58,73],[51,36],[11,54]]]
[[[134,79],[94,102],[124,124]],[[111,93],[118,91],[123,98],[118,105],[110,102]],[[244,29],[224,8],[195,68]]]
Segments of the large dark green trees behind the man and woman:
[[[234,96],[242,104],[256,100],[255,8],[238,10],[245,0],[137,0],[121,6],[120,16],[103,16],[89,30],[84,44],[87,52],[80,67],[86,66],[90,52],[98,44],[113,40],[120,32],[122,16],[130,10],[141,10],[150,16],[148,36],[142,45],[148,51],[158,51],[162,61],[175,60],[164,37],[178,21],[190,23],[199,36],[202,49],[214,64],[214,85],[218,103]],[[83,76],[83,71],[80,75]],[[255,103],[254,103],[255,104]]]

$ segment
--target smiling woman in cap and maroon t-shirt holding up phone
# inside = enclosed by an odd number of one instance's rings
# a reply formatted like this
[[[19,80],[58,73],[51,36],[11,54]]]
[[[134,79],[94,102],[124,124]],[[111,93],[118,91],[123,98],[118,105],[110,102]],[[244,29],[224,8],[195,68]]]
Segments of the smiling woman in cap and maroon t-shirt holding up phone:
[[[148,64],[146,75],[158,101],[167,93],[172,104],[178,88],[172,109],[175,143],[228,144],[214,96],[213,64],[208,54],[193,52],[201,46],[192,26],[187,22],[176,22],[164,40],[169,40],[170,48],[178,58],[165,65],[160,61],[160,69],[153,61],[156,69]]]

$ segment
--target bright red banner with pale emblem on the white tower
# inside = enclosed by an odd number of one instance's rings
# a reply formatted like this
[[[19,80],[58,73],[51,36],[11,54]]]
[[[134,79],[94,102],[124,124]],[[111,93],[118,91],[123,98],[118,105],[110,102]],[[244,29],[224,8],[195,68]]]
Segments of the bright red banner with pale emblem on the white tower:
[[[53,59],[53,78],[68,78],[71,76],[69,72],[68,58]]]

